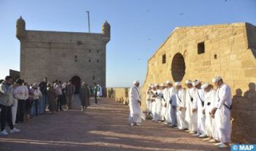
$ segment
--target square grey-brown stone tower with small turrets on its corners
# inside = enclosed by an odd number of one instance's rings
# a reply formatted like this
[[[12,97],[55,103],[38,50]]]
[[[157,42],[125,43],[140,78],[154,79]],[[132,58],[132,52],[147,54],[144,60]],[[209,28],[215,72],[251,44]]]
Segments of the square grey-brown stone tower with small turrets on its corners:
[[[110,25],[102,33],[26,30],[23,18],[17,20],[16,36],[20,40],[20,78],[26,82],[72,80],[75,85],[96,82],[105,87],[106,44]]]

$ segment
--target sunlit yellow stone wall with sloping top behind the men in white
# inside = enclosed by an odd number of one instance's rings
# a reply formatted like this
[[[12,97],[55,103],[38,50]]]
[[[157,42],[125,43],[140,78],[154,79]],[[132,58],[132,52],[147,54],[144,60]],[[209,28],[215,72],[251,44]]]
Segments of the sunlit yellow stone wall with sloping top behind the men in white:
[[[249,23],[176,28],[148,60],[142,100],[146,99],[149,83],[180,80],[184,86],[188,79],[211,82],[220,75],[236,98],[232,110],[233,141],[256,143],[255,35],[256,28]],[[205,52],[198,54],[200,42],[204,42]],[[163,55],[166,63],[162,61]],[[248,90],[249,98],[245,93]],[[143,109],[145,102],[142,101]]]

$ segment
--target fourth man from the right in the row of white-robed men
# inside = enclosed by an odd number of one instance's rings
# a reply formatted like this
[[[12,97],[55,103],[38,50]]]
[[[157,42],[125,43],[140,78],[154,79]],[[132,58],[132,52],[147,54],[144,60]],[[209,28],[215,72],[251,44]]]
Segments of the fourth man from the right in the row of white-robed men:
[[[186,115],[185,120],[188,123],[189,130],[187,133],[196,133],[197,131],[197,112],[192,112],[193,101],[195,101],[195,88],[193,88],[192,80],[186,81],[187,91],[186,91]]]

